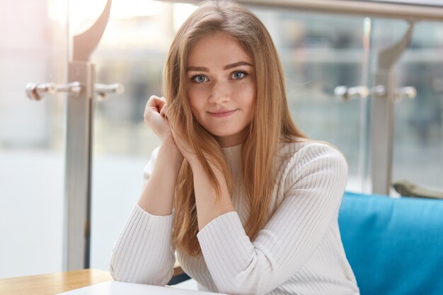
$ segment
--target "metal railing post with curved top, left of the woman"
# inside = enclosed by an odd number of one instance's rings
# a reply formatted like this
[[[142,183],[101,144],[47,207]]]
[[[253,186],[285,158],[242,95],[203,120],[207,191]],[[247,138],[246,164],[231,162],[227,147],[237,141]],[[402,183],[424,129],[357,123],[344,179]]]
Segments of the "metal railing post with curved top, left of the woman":
[[[67,150],[64,202],[63,270],[89,267],[91,238],[91,150],[93,127],[94,66],[89,62],[105,31],[111,0],[91,28],[74,36],[68,82],[77,82],[79,93],[67,96]],[[103,89],[101,90],[103,92]]]

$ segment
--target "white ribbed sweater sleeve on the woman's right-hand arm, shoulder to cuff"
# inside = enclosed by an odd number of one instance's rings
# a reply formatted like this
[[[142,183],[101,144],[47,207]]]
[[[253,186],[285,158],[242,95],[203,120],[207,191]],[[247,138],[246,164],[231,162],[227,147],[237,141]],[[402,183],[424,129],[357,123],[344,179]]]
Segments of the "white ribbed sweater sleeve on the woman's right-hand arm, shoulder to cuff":
[[[236,212],[217,217],[197,234],[219,292],[269,293],[309,260],[337,219],[347,180],[345,158],[331,146],[310,144],[291,161],[282,180],[284,201],[255,241]]]

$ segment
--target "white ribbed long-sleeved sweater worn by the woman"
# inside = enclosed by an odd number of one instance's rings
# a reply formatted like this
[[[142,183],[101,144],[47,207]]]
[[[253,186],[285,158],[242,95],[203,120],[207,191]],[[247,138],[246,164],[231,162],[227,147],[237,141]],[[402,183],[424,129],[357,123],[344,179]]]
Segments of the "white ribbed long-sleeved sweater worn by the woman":
[[[338,229],[347,164],[328,144],[282,144],[276,157],[272,217],[251,243],[243,229],[250,207],[241,171],[241,146],[224,149],[234,180],[229,212],[198,234],[202,256],[181,251],[178,261],[199,289],[226,294],[359,294]],[[145,169],[154,167],[156,153]],[[161,196],[159,196],[161,197]],[[115,243],[114,279],[165,285],[173,274],[173,214],[135,207]]]

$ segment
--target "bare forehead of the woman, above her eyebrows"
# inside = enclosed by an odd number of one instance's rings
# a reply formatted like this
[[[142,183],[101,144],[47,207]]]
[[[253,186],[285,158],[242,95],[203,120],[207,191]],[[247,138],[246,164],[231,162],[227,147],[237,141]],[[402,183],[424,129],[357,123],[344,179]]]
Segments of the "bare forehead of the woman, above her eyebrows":
[[[252,59],[237,40],[225,33],[202,37],[188,56],[188,66],[224,66],[234,62],[252,64]]]

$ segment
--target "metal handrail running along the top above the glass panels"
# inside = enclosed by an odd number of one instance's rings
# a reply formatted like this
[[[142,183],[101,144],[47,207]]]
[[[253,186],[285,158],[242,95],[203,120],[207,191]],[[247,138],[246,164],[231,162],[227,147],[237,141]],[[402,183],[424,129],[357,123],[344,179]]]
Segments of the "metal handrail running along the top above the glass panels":
[[[166,0],[198,4],[195,0]],[[241,4],[410,21],[443,21],[443,6],[358,0],[237,0]]]

